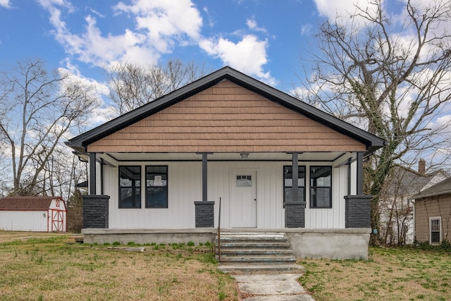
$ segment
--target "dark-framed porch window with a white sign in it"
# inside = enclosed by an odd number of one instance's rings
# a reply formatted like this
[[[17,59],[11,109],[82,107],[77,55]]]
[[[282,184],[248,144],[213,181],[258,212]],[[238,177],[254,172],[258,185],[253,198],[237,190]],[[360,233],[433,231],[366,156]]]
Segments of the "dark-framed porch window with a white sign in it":
[[[146,208],[168,208],[168,166],[146,166]]]

